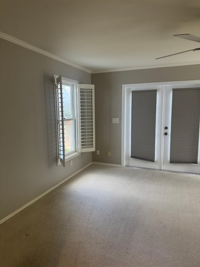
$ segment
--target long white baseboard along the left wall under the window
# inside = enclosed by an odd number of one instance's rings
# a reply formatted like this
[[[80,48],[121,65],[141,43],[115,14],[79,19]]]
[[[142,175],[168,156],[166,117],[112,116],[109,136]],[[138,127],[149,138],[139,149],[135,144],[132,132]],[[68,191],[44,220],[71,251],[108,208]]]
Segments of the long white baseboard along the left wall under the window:
[[[46,192],[44,192],[42,195],[38,196],[37,198],[34,198],[33,200],[31,200],[30,202],[28,202],[27,204],[23,205],[21,208],[18,208],[16,211],[12,212],[11,214],[9,214],[8,216],[6,216],[5,218],[0,220],[0,224],[4,223],[5,221],[7,221],[8,219],[10,219],[11,217],[13,217],[14,215],[16,215],[17,213],[19,213],[20,211],[22,211],[23,209],[27,208],[28,206],[30,206],[32,203],[36,202],[38,199],[44,197],[45,195],[47,195],[49,192],[51,192],[53,189],[55,189],[56,187],[60,186],[61,184],[63,184],[64,182],[66,182],[67,180],[69,180],[70,178],[72,178],[73,176],[75,176],[76,174],[78,174],[79,172],[83,171],[85,168],[87,168],[88,166],[90,166],[92,164],[92,162],[90,162],[88,165],[84,166],[82,169],[78,170],[77,172],[74,172],[72,175],[70,175],[69,177],[67,177],[66,179],[64,179],[62,182],[59,182],[57,185],[53,186],[52,188],[50,188],[49,190],[47,190]]]

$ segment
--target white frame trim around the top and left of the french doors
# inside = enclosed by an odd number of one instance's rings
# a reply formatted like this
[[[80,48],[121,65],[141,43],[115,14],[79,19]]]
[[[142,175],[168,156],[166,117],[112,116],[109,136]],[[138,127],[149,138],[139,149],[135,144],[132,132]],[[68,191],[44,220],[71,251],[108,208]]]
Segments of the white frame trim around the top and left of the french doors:
[[[189,80],[189,81],[172,81],[172,82],[158,82],[158,83],[142,83],[142,84],[128,84],[122,85],[122,167],[125,167],[125,148],[126,148],[126,138],[125,138],[125,129],[126,129],[126,94],[130,87],[150,87],[150,86],[165,86],[168,85],[191,85],[198,84],[200,80]],[[165,98],[164,94],[164,98]],[[164,99],[165,101],[165,99]],[[163,115],[164,116],[164,115]],[[164,140],[164,139],[163,139]],[[163,144],[164,145],[164,144]],[[163,166],[162,166],[163,169]]]

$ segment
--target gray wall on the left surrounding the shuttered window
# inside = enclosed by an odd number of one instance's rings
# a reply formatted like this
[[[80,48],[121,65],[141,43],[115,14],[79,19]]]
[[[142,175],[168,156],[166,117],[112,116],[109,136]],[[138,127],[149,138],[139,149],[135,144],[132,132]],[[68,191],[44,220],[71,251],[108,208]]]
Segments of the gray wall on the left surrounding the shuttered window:
[[[0,39],[0,219],[92,161],[56,164],[53,74],[90,84],[91,74]]]

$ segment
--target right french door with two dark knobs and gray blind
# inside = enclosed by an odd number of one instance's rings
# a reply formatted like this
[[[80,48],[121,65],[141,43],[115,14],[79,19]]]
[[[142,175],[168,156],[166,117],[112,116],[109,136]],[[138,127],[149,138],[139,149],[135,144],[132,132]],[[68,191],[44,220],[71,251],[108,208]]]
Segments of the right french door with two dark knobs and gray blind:
[[[166,86],[163,169],[200,173],[200,84]]]

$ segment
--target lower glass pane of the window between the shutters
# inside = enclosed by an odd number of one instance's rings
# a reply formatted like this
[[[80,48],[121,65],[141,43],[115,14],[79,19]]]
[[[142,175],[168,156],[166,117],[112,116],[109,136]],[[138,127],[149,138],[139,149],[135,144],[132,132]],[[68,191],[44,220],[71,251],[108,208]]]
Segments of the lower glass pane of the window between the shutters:
[[[75,121],[64,121],[65,155],[75,150]]]

